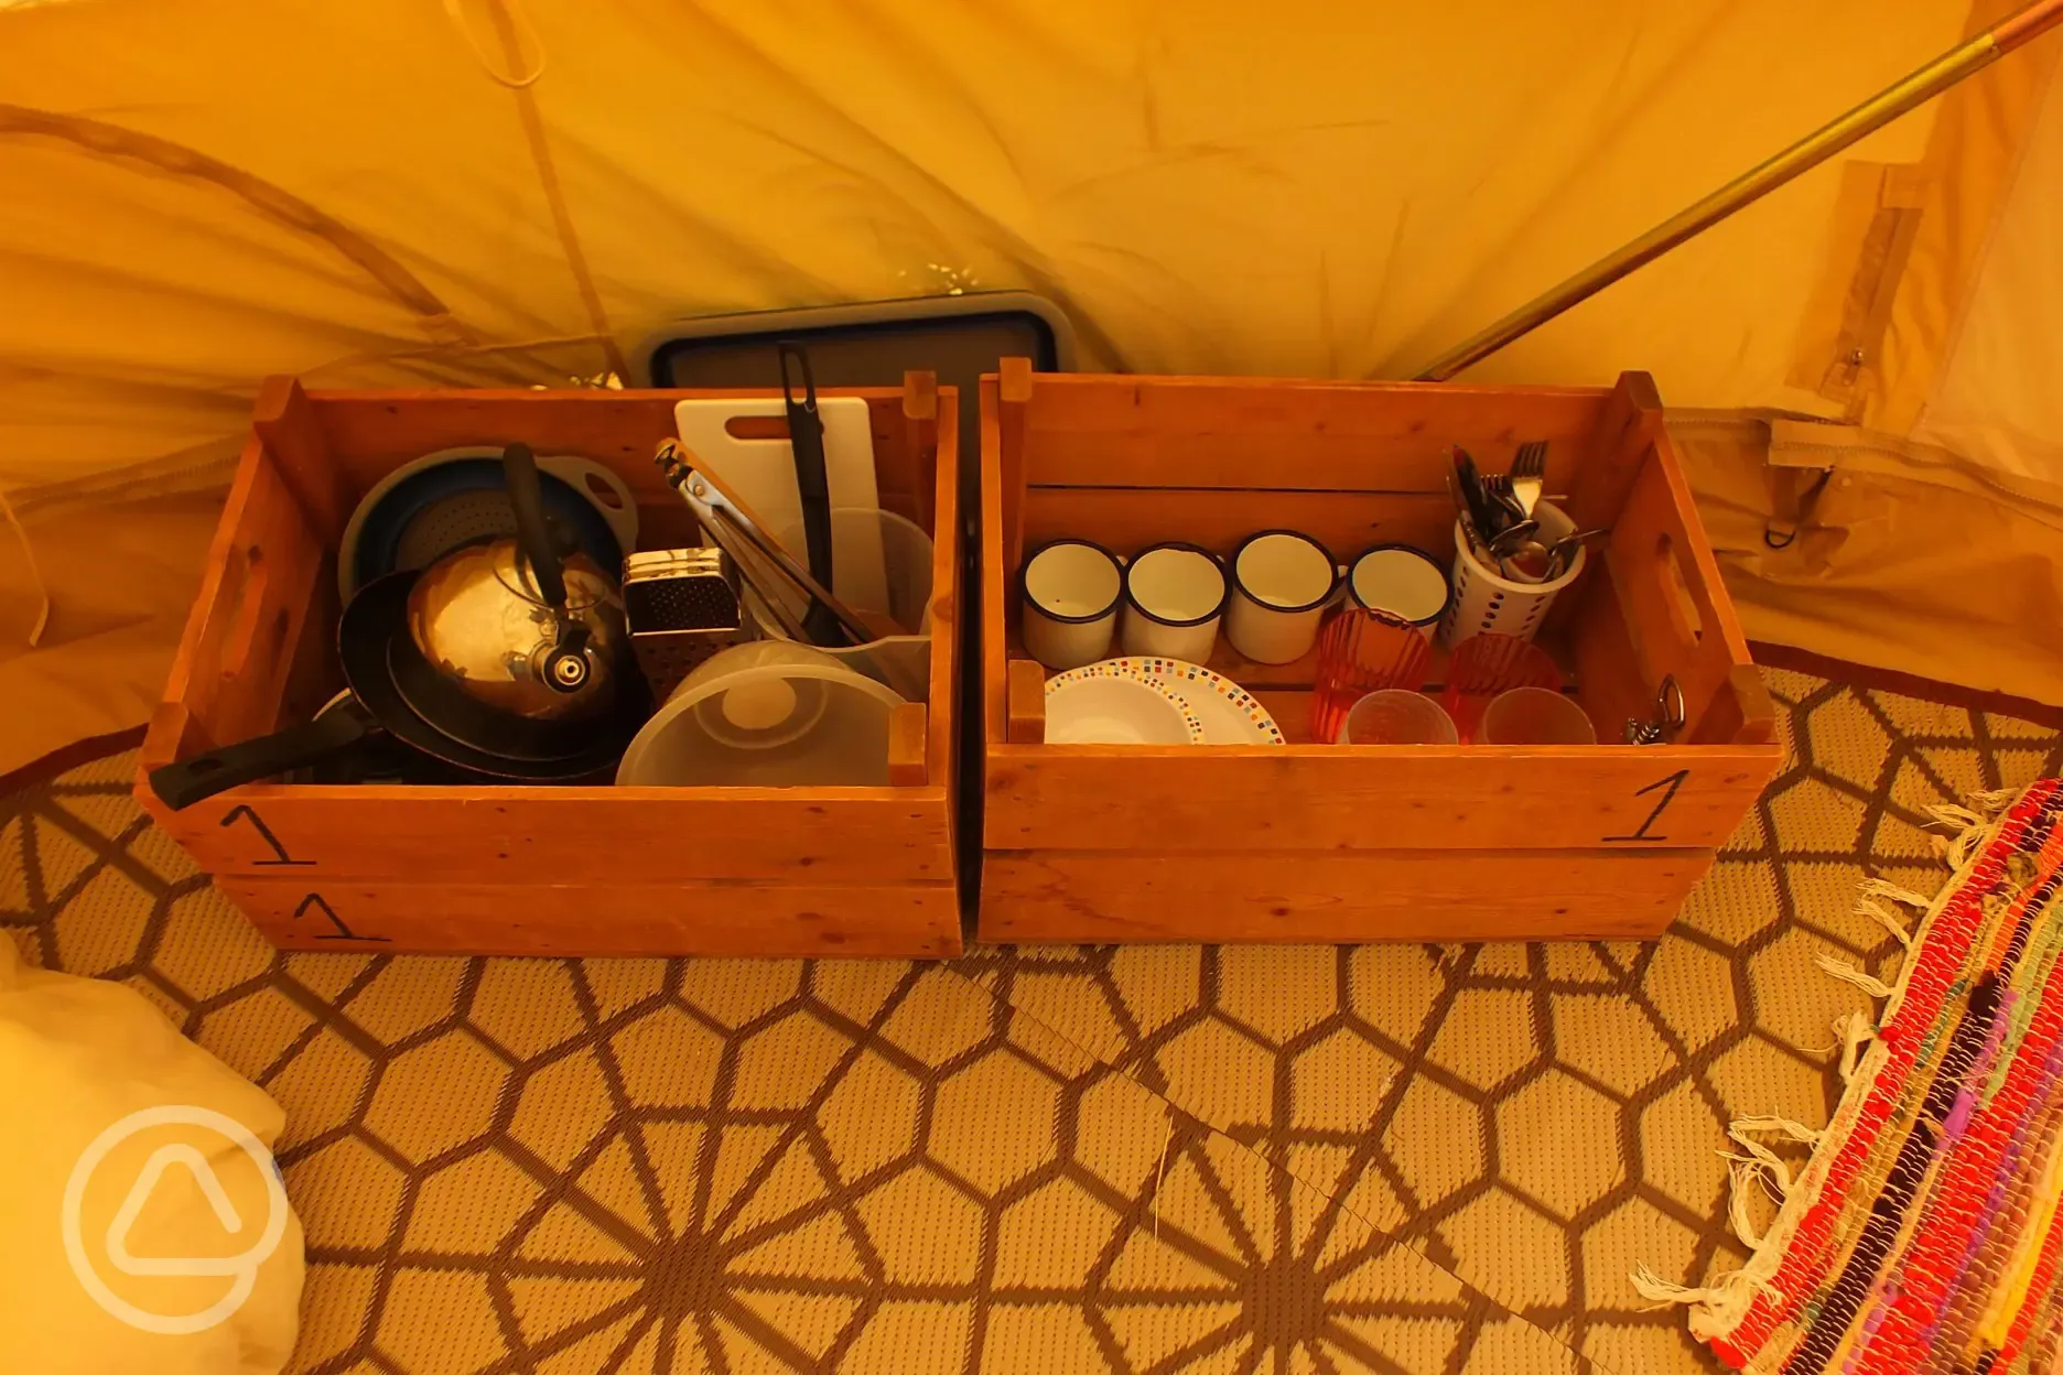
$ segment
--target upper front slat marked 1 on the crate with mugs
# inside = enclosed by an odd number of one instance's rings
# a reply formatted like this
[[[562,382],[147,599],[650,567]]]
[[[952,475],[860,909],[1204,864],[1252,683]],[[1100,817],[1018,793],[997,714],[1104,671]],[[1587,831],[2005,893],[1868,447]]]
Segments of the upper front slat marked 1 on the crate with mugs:
[[[1776,765],[1776,746],[992,744],[984,835],[990,849],[1716,847]]]

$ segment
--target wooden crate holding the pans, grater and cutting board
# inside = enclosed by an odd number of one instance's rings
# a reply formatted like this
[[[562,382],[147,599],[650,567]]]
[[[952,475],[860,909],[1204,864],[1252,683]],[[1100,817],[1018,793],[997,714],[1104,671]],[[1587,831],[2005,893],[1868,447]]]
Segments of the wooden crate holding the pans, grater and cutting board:
[[[435,449],[528,441],[607,464],[640,544],[697,540],[652,466],[687,396],[260,394],[142,771],[307,719],[338,686],[334,550],[382,476]],[[881,505],[932,530],[930,703],[897,709],[889,787],[254,783],[182,812],[136,796],[279,946],[481,954],[959,950],[953,862],[957,396],[932,377],[836,390],[873,414]],[[776,423],[778,425],[778,423]]]

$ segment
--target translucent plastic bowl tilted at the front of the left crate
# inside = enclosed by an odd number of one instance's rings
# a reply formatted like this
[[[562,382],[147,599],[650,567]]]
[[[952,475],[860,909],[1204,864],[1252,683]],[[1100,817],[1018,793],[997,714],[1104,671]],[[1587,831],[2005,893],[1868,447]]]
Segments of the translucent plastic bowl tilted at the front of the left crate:
[[[879,787],[889,781],[891,689],[831,656],[753,641],[673,691],[617,767],[629,787]]]

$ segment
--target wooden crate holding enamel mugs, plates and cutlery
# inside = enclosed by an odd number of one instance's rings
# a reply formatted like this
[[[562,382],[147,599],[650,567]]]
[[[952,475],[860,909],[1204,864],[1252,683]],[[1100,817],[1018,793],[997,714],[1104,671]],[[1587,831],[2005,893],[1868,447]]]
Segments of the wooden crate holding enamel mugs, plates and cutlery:
[[[1679,742],[1312,744],[1314,656],[1248,664],[1223,639],[1211,666],[1260,697],[1287,746],[1044,742],[1046,674],[1017,645],[1027,546],[1232,552],[1291,528],[1341,561],[1378,542],[1450,561],[1444,447],[1502,472],[1529,439],[1549,441],[1547,493],[1611,528],[1541,643],[1607,742],[1673,674]],[[1644,373],[1469,388],[1034,375],[1011,359],[982,381],[982,940],[1655,936],[1780,761]]]

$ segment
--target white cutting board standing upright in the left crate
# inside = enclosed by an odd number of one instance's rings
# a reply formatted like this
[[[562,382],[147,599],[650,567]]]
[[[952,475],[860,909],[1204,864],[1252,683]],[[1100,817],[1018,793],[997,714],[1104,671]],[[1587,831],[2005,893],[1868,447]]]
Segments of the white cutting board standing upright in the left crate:
[[[716,398],[675,402],[673,408],[673,425],[681,431],[681,443],[759,515],[767,538],[778,540],[784,530],[803,526],[803,491],[794,480],[794,447],[786,439],[739,439],[724,429],[736,418],[767,416],[786,418],[786,402],[778,396],[761,400]],[[825,396],[817,400],[817,416],[823,421],[823,476],[831,489],[831,509],[879,511],[875,431],[866,418],[866,402],[858,396]],[[809,552],[800,542],[788,552],[794,555],[796,563],[809,567]],[[864,608],[887,608],[887,565],[879,536],[838,540],[831,575],[836,583],[831,592],[842,600]]]

